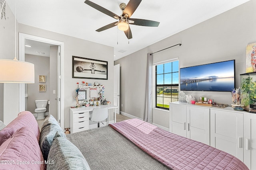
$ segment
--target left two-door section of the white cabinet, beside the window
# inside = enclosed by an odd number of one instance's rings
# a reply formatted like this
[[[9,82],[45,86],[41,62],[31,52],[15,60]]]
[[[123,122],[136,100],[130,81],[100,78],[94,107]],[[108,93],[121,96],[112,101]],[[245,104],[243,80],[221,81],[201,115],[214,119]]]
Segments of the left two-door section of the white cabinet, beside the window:
[[[170,132],[210,145],[210,107],[170,103]]]

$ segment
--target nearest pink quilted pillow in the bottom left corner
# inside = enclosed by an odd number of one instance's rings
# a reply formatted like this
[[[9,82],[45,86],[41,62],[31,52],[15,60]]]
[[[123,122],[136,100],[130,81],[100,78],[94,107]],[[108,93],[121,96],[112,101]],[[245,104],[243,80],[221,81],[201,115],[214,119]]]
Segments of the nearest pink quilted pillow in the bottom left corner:
[[[0,169],[46,169],[38,141],[26,126],[0,146],[0,160]]]

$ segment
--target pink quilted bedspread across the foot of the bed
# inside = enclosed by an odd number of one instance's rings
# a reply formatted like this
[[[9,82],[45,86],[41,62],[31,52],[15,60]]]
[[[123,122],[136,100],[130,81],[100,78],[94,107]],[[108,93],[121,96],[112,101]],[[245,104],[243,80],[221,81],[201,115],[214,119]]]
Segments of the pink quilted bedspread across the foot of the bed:
[[[231,154],[140,119],[129,119],[110,126],[173,170],[249,170]]]

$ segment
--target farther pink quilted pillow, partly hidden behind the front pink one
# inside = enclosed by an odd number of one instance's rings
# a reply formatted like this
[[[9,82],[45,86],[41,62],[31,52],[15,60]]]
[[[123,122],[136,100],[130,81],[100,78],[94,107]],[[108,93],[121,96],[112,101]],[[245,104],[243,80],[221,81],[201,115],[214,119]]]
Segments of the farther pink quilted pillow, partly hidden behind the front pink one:
[[[16,117],[4,129],[2,129],[2,131],[0,131],[0,146],[18,129],[24,126],[30,128],[30,131],[32,131],[39,143],[40,130],[34,115],[30,111],[22,111],[18,114],[18,117]]]

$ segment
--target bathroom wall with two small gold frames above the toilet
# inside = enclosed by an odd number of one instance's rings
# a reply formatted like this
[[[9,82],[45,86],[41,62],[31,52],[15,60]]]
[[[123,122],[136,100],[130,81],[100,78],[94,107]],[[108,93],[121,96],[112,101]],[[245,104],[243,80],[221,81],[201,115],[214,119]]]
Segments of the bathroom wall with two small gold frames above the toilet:
[[[27,110],[35,113],[35,100],[50,100],[50,57],[25,54],[25,61],[35,65],[35,83],[28,84],[27,98]],[[46,82],[39,82],[39,75],[45,75]],[[45,92],[39,92],[39,84],[46,84]],[[46,112],[49,112],[49,105]]]

